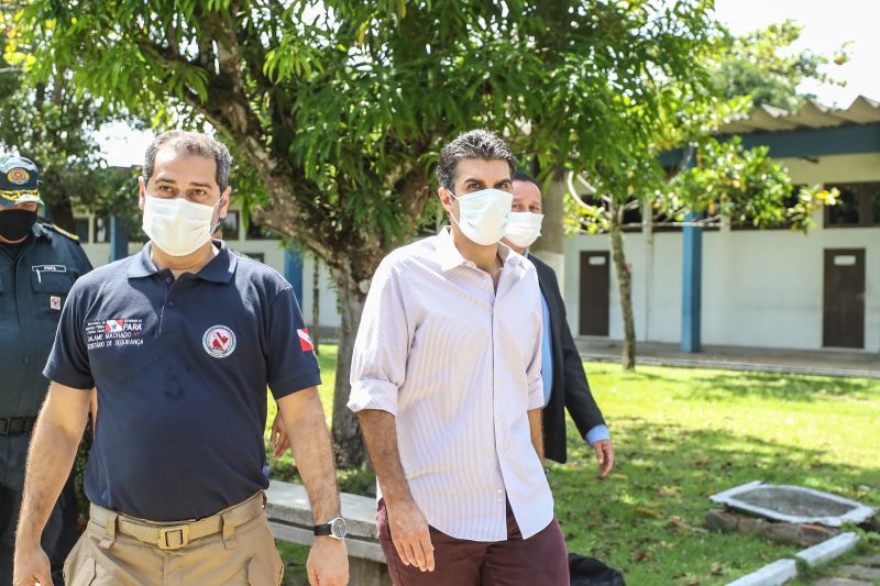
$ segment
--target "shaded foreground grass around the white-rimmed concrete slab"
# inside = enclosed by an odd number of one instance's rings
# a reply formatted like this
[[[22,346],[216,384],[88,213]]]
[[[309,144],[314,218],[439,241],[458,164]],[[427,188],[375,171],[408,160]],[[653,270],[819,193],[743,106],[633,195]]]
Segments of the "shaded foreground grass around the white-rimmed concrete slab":
[[[792,450],[716,430],[615,420],[617,464],[598,480],[592,451],[575,446],[551,466],[557,512],[573,553],[620,568],[628,584],[726,584],[794,546],[702,529],[708,496],[761,479],[880,505],[880,469],[854,468],[821,451]]]

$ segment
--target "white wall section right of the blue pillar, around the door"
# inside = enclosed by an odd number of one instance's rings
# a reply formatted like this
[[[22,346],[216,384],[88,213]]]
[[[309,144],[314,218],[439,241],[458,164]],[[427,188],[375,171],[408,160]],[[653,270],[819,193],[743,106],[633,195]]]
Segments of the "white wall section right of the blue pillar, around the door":
[[[880,351],[880,228],[718,236],[703,251],[706,344],[821,349],[824,251],[865,248],[865,349]]]

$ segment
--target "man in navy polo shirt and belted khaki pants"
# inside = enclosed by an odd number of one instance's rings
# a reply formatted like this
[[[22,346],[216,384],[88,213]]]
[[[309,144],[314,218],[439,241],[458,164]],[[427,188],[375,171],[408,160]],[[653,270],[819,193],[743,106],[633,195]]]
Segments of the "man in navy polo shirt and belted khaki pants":
[[[318,537],[309,581],[348,582],[317,361],[290,285],[212,229],[231,157],[213,139],[166,132],[146,152],[140,254],[76,283],[44,371],[52,380],[28,464],[15,586],[51,584],[40,549],[98,391],[86,469],[87,531],[68,585],[277,585],[263,512],[268,385],[309,493]],[[331,526],[327,528],[326,526]],[[328,531],[324,531],[328,529]],[[328,534],[329,533],[329,534]]]

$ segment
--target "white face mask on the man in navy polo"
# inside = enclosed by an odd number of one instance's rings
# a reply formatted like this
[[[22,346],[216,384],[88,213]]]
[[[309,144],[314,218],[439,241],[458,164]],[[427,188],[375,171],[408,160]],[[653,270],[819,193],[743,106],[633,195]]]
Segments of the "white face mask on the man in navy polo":
[[[202,206],[184,198],[144,198],[144,233],[172,256],[193,254],[211,240],[213,212],[220,206]]]

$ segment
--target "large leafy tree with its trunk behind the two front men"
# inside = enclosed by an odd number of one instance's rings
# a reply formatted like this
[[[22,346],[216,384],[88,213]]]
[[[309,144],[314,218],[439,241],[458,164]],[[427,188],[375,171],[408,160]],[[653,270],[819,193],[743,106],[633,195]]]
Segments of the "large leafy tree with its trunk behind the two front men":
[[[109,112],[209,122],[265,186],[260,221],[337,280],[333,438],[363,457],[344,409],[353,334],[380,259],[431,198],[437,153],[484,126],[542,168],[626,189],[656,165],[681,106],[716,98],[701,65],[723,36],[710,0],[36,0],[16,30],[35,79],[70,73]]]

